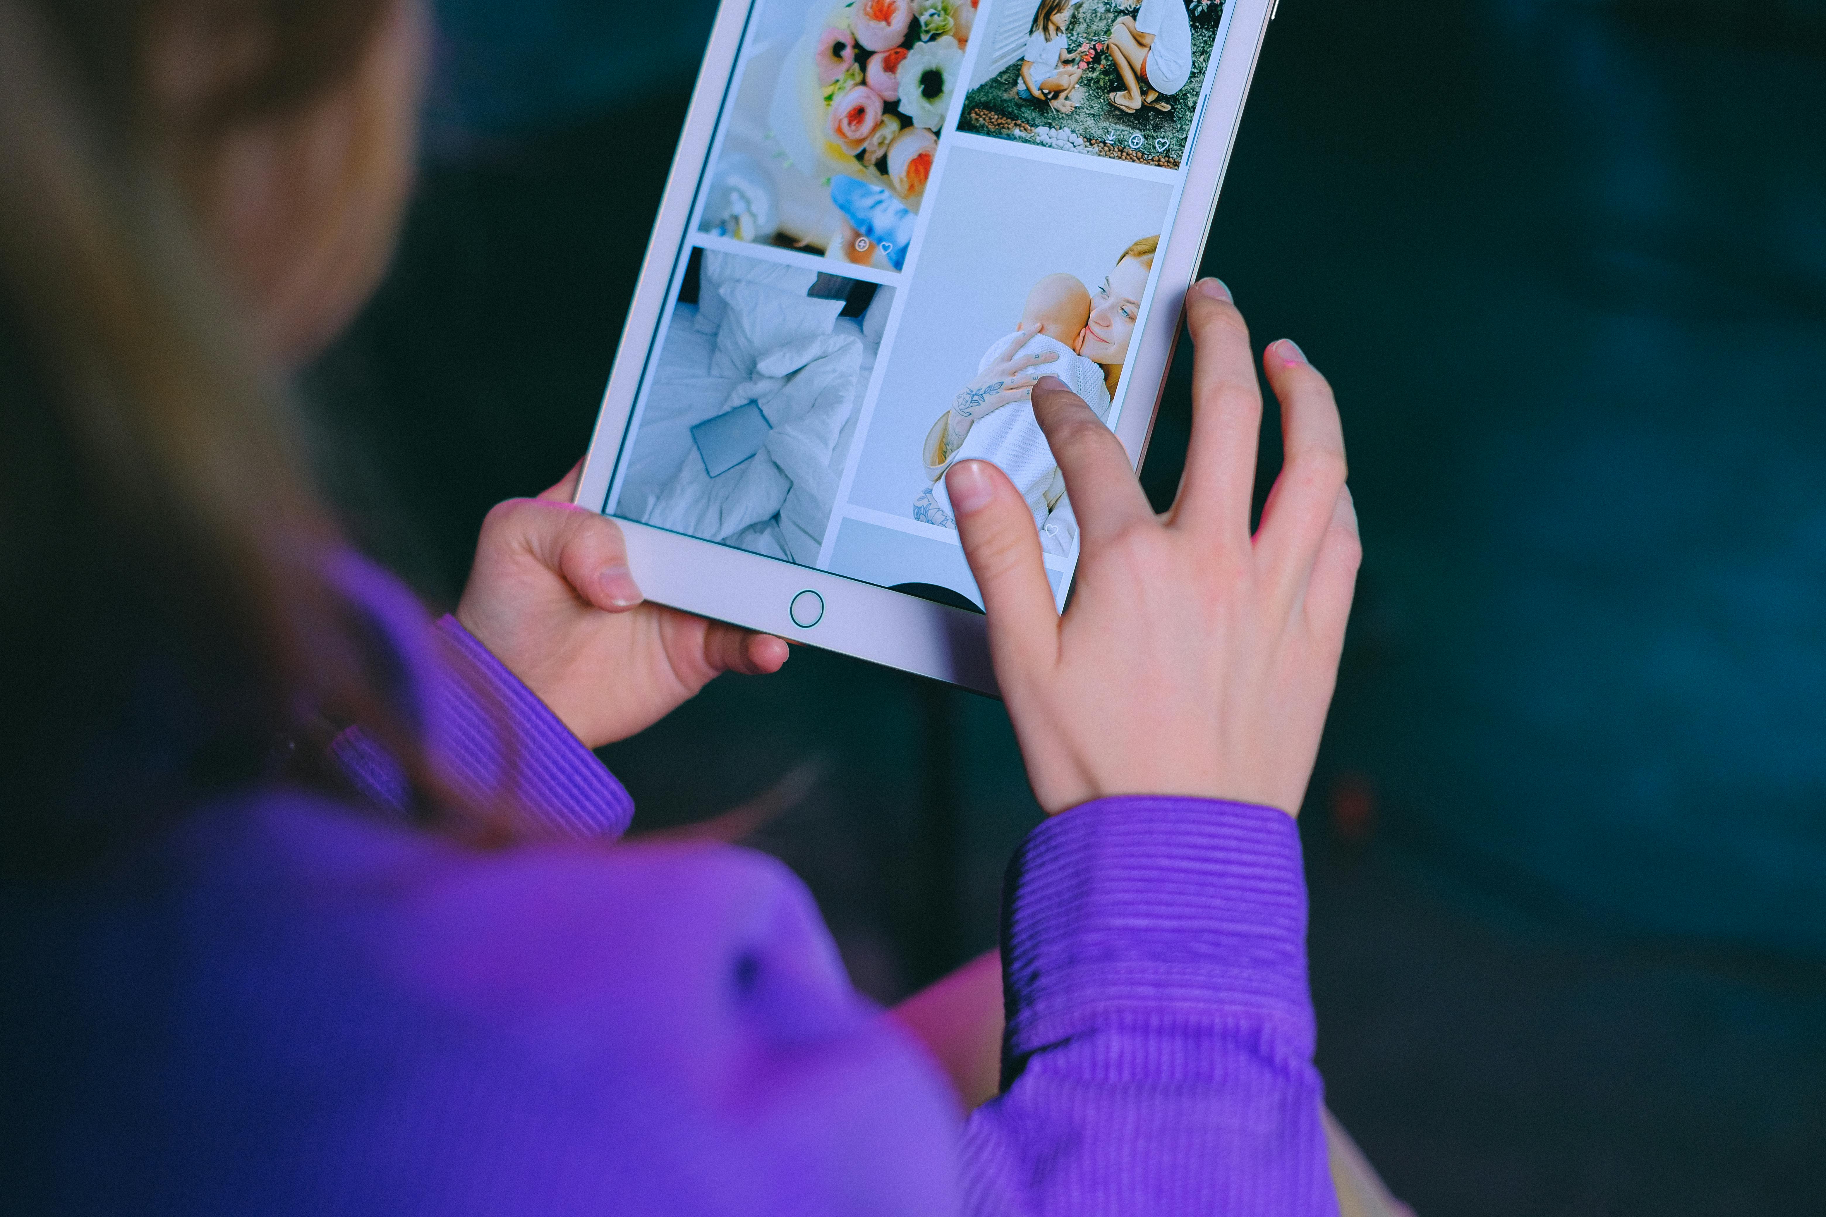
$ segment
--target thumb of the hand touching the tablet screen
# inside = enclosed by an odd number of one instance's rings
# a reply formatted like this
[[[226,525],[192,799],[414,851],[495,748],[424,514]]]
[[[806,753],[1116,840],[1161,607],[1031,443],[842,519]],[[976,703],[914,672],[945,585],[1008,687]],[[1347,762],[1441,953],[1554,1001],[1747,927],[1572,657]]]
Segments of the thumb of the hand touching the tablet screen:
[[[964,460],[944,476],[957,513],[964,558],[990,617],[997,679],[1052,666],[1059,653],[1059,611],[1039,551],[1034,511],[1008,474],[986,460]]]

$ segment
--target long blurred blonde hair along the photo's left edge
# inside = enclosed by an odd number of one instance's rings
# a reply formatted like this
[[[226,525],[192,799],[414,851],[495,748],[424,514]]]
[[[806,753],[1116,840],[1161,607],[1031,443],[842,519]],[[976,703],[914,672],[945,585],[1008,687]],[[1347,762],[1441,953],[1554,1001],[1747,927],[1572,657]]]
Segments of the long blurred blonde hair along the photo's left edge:
[[[144,60],[188,2],[265,36],[179,130],[148,117]],[[9,865],[80,861],[133,832],[128,817],[181,806],[199,783],[270,777],[281,741],[321,744],[356,721],[405,765],[425,819],[464,805],[325,582],[340,529],[305,473],[290,394],[197,250],[173,148],[325,93],[383,13],[0,0],[0,688],[31,708],[0,733]],[[164,726],[144,721],[148,679],[155,713],[194,726],[181,788],[126,774],[133,797],[93,796],[91,817],[73,816],[75,775],[108,732]],[[299,748],[292,777],[334,786],[320,755]]]

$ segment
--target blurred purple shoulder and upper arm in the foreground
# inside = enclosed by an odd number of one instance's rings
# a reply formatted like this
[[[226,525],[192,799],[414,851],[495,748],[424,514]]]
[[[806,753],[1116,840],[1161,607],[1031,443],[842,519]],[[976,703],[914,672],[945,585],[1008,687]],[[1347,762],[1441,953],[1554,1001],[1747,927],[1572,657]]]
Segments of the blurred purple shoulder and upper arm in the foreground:
[[[477,852],[272,790],[199,810],[93,905],[73,971],[100,1014],[62,1033],[58,1109],[106,1146],[102,1195],[785,1212],[864,1160],[889,1162],[898,1212],[944,1208],[940,1084],[765,856]]]

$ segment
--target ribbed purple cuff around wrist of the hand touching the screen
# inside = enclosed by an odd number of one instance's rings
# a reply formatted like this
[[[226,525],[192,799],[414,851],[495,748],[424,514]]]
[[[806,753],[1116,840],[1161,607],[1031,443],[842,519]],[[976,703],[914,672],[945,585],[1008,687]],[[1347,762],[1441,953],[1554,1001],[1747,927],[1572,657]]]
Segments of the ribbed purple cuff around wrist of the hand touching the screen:
[[[1313,1051],[1306,876],[1291,816],[1216,799],[1119,797],[1039,825],[1008,869],[1010,1056],[1096,1025],[1265,1018]]]

